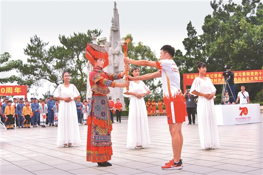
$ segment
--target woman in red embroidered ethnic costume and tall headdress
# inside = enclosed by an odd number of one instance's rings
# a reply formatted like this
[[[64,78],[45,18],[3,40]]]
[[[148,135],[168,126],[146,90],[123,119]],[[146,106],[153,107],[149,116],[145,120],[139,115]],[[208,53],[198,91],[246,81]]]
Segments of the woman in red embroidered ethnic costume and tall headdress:
[[[125,71],[115,75],[102,70],[109,65],[108,53],[104,47],[87,43],[86,59],[94,66],[89,75],[93,95],[87,116],[86,161],[97,162],[99,166],[111,166],[112,164],[108,162],[112,155],[112,121],[107,99],[107,94],[110,93],[108,87],[127,87],[129,81],[123,84],[114,82],[122,79]],[[128,65],[125,66],[125,70],[129,71]]]

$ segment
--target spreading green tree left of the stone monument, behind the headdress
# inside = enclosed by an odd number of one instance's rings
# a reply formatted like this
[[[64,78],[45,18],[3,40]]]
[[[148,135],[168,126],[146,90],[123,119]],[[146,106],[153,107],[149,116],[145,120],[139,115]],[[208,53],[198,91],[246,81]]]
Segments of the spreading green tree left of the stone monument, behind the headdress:
[[[73,33],[70,37],[59,35],[61,45],[48,48],[48,42],[43,42],[36,35],[30,38],[30,43],[24,49],[29,56],[27,64],[19,71],[24,81],[31,82],[36,87],[51,83],[54,87],[63,83],[62,73],[70,73],[70,82],[79,90],[81,96],[86,94],[87,75],[85,48],[87,42],[92,42],[92,34],[100,36],[101,30],[88,30],[86,33]]]

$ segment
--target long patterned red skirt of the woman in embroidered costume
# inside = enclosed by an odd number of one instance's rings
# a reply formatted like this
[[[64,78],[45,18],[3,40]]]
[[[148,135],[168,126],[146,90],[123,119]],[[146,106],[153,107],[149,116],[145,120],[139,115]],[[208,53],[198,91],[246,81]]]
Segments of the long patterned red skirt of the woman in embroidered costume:
[[[112,124],[107,96],[94,95],[87,118],[86,161],[105,162],[111,160]]]

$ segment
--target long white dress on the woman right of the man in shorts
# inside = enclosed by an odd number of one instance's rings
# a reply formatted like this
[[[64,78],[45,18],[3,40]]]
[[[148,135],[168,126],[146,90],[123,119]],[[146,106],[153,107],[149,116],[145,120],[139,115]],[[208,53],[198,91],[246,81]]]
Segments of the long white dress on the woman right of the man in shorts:
[[[211,79],[207,77],[206,80],[196,77],[190,93],[194,90],[200,93],[213,93],[216,91]],[[219,139],[213,99],[207,100],[204,96],[198,97],[197,119],[201,148],[218,147]]]

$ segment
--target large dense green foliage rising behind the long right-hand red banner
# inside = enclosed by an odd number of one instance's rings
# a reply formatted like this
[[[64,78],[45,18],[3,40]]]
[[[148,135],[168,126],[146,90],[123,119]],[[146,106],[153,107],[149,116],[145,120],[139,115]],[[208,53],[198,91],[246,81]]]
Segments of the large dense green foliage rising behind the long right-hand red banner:
[[[191,21],[187,25],[188,37],[183,44],[186,54],[176,57],[185,59],[181,73],[196,73],[195,63],[204,61],[207,72],[231,70],[257,70],[263,65],[263,5],[259,0],[243,0],[241,5],[223,1],[210,3],[213,13],[207,15],[202,26],[203,34],[197,35]],[[180,53],[180,51],[178,51]],[[222,86],[216,86],[222,92]],[[262,89],[262,83],[246,85],[252,99]],[[240,85],[236,85],[240,91]],[[220,99],[218,99],[220,100]]]

